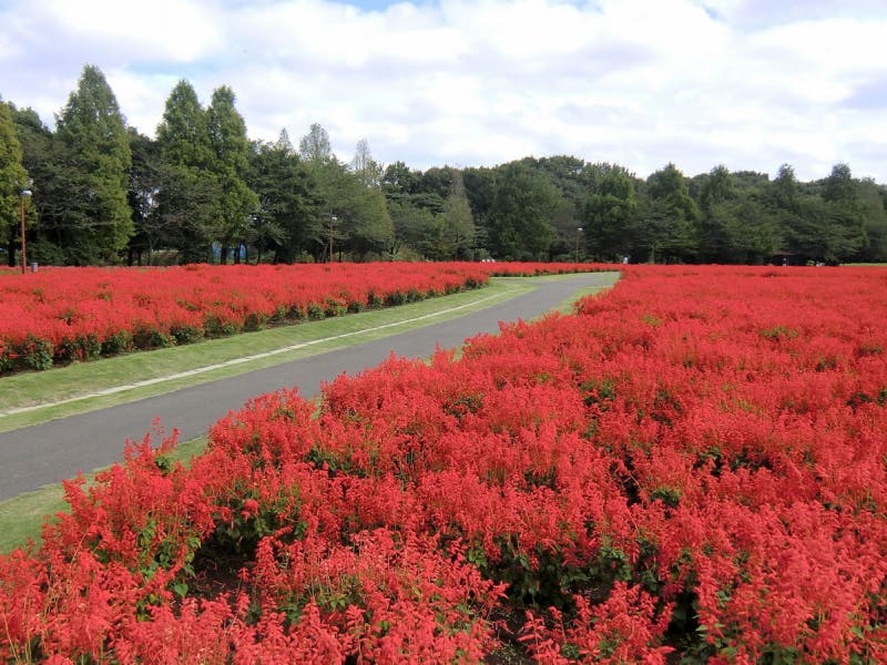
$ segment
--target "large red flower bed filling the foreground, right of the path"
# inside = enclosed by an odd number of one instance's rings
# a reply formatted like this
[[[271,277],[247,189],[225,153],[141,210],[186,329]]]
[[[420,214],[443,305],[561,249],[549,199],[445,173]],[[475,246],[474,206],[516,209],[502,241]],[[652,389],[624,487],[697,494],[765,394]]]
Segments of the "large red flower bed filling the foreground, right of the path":
[[[887,272],[629,266],[572,316],[130,447],[0,658],[887,661]],[[65,659],[69,658],[69,659]]]

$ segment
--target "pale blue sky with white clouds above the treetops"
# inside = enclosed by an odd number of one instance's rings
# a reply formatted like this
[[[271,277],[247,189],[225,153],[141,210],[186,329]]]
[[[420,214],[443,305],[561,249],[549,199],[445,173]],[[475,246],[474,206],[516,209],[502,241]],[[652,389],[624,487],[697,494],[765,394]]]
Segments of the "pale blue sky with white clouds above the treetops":
[[[147,135],[185,79],[344,162],[887,183],[887,0],[0,0],[0,96],[50,126],[93,64]]]

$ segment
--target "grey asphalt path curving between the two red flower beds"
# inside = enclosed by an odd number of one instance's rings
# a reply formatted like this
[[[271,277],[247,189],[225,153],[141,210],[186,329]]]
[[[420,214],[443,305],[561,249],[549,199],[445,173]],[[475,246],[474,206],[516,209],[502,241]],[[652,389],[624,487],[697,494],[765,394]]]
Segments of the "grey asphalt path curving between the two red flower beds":
[[[540,282],[527,294],[440,324],[0,433],[0,501],[72,478],[80,470],[89,471],[122,459],[125,441],[142,440],[152,431],[155,419],[160,419],[166,432],[177,429],[180,440],[188,441],[204,436],[212,423],[232,410],[239,410],[252,397],[296,386],[304,397],[312,398],[323,382],[343,372],[356,375],[375,367],[392,352],[425,358],[437,347],[459,348],[469,337],[498,332],[500,321],[530,320],[577,289],[612,283],[612,274],[599,273]]]

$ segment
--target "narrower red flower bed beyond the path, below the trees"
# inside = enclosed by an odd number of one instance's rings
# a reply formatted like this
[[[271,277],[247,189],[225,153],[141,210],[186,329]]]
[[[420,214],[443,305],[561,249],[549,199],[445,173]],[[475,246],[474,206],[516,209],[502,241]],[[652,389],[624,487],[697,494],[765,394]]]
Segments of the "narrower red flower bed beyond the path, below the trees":
[[[400,305],[491,275],[588,264],[374,263],[171,268],[50,268],[0,275],[0,375],[267,325]]]

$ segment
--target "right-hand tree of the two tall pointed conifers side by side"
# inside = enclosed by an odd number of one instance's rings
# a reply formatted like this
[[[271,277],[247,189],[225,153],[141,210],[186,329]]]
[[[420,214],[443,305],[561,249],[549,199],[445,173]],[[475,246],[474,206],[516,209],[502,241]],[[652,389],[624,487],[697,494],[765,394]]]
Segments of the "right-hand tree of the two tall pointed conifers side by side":
[[[234,91],[227,85],[213,92],[206,110],[206,126],[210,134],[212,171],[220,186],[220,223],[216,239],[222,245],[221,262],[227,262],[230,247],[236,247],[234,263],[239,263],[239,245],[249,233],[251,215],[258,205],[258,197],[247,186],[245,177],[249,165],[249,142],[246,123],[234,106]]]

